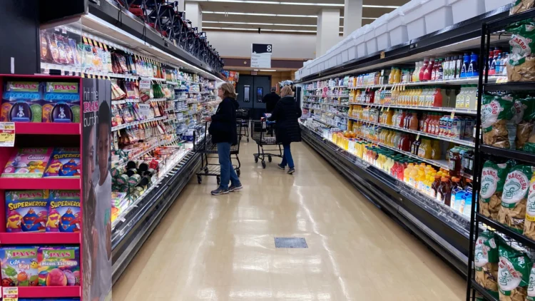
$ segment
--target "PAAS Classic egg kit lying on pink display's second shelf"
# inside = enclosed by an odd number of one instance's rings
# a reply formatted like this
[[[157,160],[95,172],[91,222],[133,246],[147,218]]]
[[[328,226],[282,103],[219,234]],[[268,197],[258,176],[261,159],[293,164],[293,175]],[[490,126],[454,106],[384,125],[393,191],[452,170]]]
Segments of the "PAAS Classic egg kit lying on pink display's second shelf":
[[[52,148],[19,148],[6,163],[1,178],[41,178]]]

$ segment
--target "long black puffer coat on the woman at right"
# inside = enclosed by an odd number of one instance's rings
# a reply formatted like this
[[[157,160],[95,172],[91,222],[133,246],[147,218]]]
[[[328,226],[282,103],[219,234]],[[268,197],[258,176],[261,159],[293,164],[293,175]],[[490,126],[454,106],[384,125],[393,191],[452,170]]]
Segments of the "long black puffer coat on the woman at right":
[[[292,96],[285,96],[280,98],[277,102],[275,110],[270,118],[270,121],[275,123],[275,136],[277,143],[290,144],[291,142],[301,141],[301,128],[297,118],[301,117],[301,109],[297,105],[295,98]]]

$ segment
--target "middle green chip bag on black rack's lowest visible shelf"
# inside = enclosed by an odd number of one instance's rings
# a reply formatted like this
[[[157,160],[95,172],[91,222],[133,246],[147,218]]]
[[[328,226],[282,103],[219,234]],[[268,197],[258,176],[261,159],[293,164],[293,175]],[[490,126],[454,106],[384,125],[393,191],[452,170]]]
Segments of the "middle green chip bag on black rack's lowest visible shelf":
[[[499,245],[498,285],[500,300],[525,300],[531,260],[509,245]],[[502,296],[504,296],[502,298]]]

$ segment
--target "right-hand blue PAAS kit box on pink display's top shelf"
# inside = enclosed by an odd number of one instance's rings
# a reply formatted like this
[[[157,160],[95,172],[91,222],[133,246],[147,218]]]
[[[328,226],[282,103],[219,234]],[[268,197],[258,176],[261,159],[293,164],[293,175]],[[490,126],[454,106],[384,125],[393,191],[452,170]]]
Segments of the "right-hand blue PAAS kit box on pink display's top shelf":
[[[46,82],[43,122],[80,122],[78,83]]]

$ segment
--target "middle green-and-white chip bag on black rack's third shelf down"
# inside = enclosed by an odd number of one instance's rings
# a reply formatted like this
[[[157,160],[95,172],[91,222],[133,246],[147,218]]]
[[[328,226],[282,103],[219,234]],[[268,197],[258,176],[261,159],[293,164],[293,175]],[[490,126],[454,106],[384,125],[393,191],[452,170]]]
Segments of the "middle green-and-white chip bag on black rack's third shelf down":
[[[498,221],[518,233],[524,232],[529,180],[533,171],[531,165],[521,164],[511,168],[505,178],[504,192],[501,194]]]

